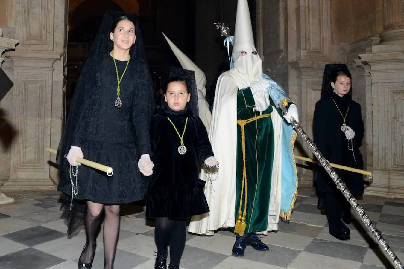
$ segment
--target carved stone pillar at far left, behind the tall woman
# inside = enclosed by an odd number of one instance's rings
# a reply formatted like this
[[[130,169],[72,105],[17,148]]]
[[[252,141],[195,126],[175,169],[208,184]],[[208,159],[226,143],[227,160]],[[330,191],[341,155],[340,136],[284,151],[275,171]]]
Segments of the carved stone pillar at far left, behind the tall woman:
[[[55,156],[45,148],[57,148],[61,135],[66,8],[67,0],[15,2],[20,44],[4,55],[12,61],[8,114],[17,138],[11,146],[9,179],[0,190],[56,188]]]

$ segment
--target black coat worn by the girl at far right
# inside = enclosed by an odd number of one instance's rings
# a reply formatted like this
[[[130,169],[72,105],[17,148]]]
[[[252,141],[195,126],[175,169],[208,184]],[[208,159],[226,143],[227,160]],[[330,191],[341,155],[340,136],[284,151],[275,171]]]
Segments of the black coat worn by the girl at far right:
[[[343,118],[332,99],[335,100],[344,116],[349,107],[346,124],[355,131],[352,144],[348,142],[345,134],[340,129],[343,124]],[[333,93],[331,96],[318,101],[314,110],[313,129],[314,142],[330,163],[363,169],[362,154],[359,151],[364,136],[362,113],[360,104],[351,100],[348,94],[340,97]],[[351,148],[352,146],[353,152],[348,149],[348,147]],[[341,169],[335,169],[335,172],[345,182],[352,194],[363,194],[364,183],[362,174]],[[337,191],[335,183],[322,168],[317,173],[317,190],[320,192]]]

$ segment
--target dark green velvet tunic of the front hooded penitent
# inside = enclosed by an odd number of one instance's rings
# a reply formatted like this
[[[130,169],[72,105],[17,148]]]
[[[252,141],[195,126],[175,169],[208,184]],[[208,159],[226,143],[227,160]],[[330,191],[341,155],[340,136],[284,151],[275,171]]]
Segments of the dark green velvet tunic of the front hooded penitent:
[[[250,88],[237,93],[237,119],[247,120],[272,112],[272,107],[262,113],[255,111],[255,102]],[[237,123],[236,123],[237,124]],[[245,126],[247,215],[245,233],[266,231],[268,225],[269,195],[274,160],[274,129],[271,117],[261,118]],[[237,125],[236,210],[238,219],[243,176],[241,127]],[[244,194],[242,211],[244,210]]]

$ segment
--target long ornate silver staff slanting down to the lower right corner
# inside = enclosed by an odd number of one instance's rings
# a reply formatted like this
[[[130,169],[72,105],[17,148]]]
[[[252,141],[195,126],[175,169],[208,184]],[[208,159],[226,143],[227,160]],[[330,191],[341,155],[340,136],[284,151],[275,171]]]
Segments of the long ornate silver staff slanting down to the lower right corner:
[[[286,114],[288,112],[285,107],[280,106],[280,108],[282,109],[283,113]],[[391,250],[389,244],[387,244],[386,240],[384,240],[383,236],[381,236],[381,232],[372,223],[369,216],[366,215],[362,206],[359,205],[358,200],[353,197],[345,183],[339,178],[337,173],[335,173],[334,169],[332,169],[328,160],[324,158],[323,154],[320,152],[320,150],[318,150],[313,141],[311,141],[311,139],[300,126],[300,124],[293,117],[291,117],[290,121],[293,125],[293,128],[302,136],[303,140],[307,143],[307,145],[309,145],[309,148],[314,153],[316,158],[318,158],[318,161],[320,161],[320,164],[324,167],[328,175],[330,175],[331,179],[335,182],[335,184],[337,185],[337,189],[342,192],[342,194],[345,196],[345,199],[347,199],[352,208],[355,209],[356,214],[358,214],[362,222],[365,224],[366,228],[370,231],[370,234],[376,239],[377,243],[387,256],[387,258],[391,261],[395,268],[404,269],[400,259],[398,259],[393,250]]]

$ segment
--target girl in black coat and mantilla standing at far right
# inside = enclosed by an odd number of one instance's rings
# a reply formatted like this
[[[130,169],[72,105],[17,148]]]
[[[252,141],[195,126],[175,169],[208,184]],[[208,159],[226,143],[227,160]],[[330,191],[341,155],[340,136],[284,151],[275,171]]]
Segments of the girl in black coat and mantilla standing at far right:
[[[363,169],[359,147],[364,135],[360,104],[352,100],[351,74],[346,65],[326,65],[321,100],[314,110],[314,142],[330,163]],[[335,169],[353,195],[364,192],[361,174]],[[316,175],[317,191],[325,200],[330,234],[349,240],[351,206],[324,169]],[[342,220],[341,220],[342,219]]]

